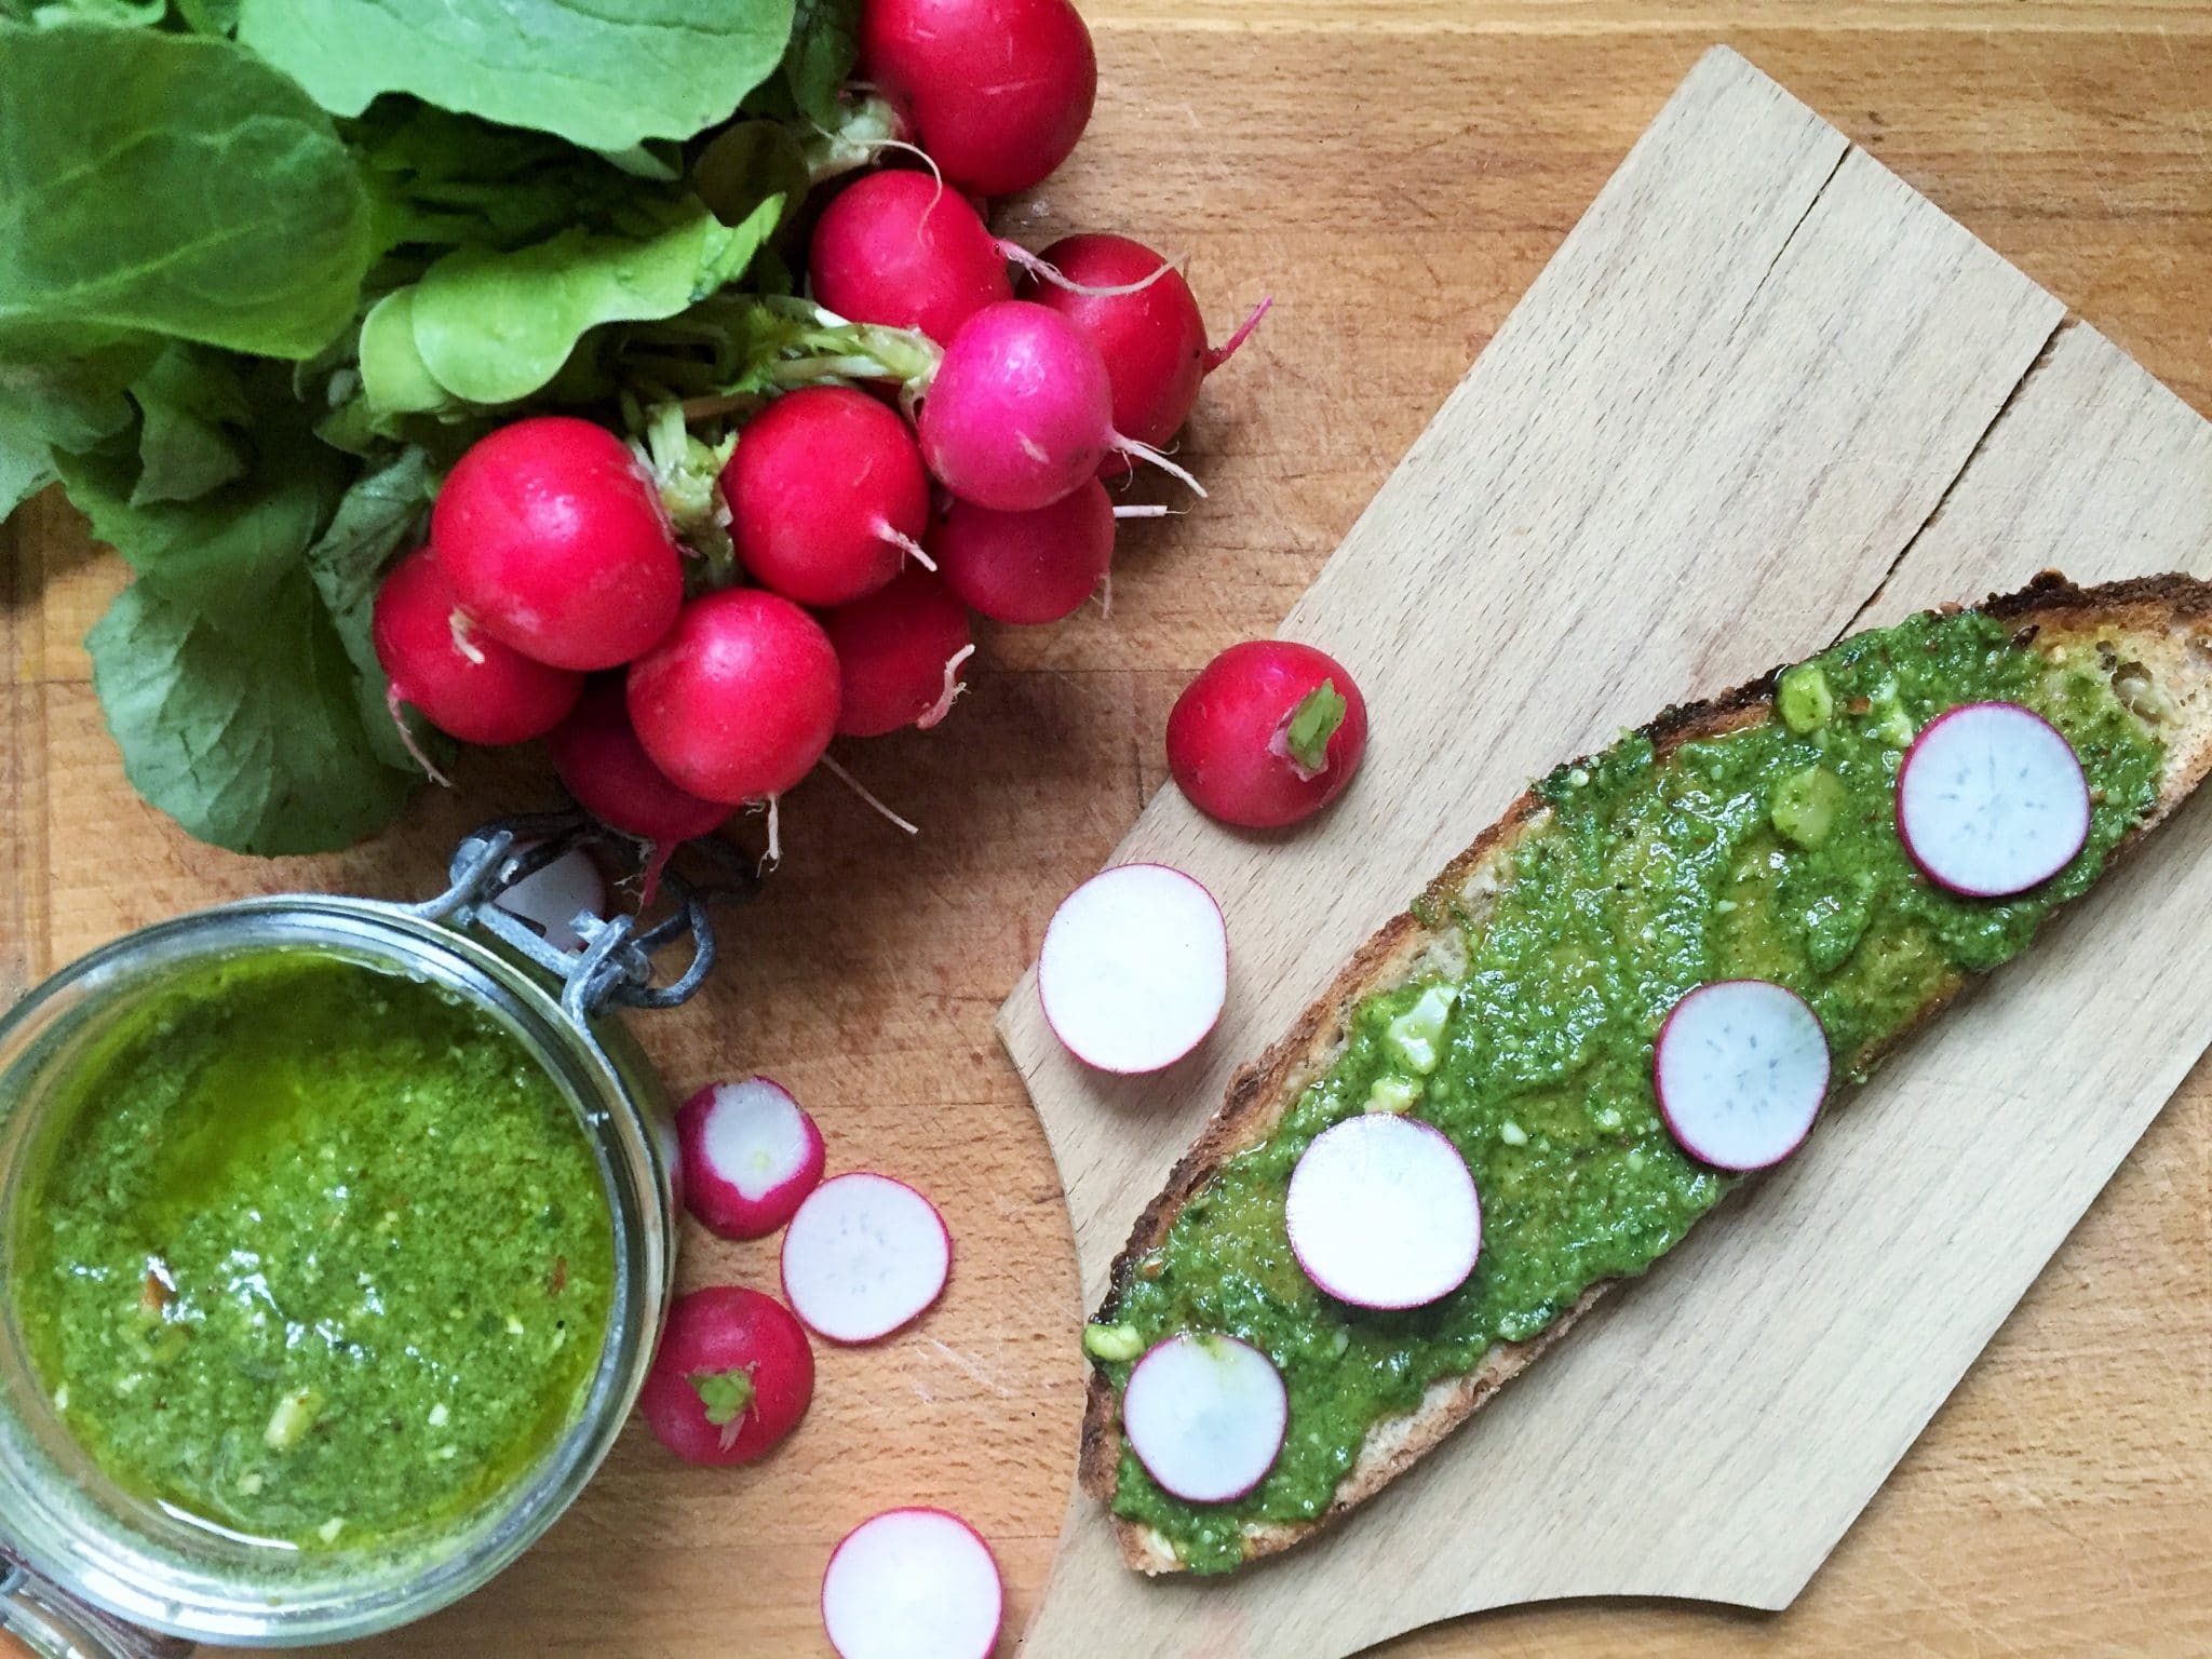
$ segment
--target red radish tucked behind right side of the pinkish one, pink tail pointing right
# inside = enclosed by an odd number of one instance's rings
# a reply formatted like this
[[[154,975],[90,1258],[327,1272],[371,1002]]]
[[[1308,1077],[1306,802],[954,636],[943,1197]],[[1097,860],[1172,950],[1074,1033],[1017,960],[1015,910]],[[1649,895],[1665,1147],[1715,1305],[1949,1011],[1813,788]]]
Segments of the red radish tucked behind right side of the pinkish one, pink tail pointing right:
[[[1219,349],[1206,345],[1206,319],[1179,270],[1146,281],[1168,261],[1128,237],[1064,237],[1040,259],[1073,288],[1031,279],[1022,299],[1051,305],[1091,336],[1113,380],[1113,425],[1139,442],[1166,445],[1190,420],[1199,380],[1219,369],[1259,327],[1270,301],[1243,321]],[[1128,290],[1130,283],[1144,283]],[[1088,292],[1086,292],[1088,290]],[[1110,292],[1128,290],[1128,292]],[[1126,469],[1106,458],[1106,476]]]

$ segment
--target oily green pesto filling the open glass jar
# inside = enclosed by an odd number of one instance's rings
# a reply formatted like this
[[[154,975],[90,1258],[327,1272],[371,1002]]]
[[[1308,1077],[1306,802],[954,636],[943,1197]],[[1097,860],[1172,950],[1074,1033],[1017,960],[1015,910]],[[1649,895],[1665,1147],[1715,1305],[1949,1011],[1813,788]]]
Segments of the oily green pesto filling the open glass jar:
[[[126,1491],[301,1551],[434,1542],[582,1411],[613,1212],[520,1037],[314,951],[223,960],[73,1071],[13,1316]]]

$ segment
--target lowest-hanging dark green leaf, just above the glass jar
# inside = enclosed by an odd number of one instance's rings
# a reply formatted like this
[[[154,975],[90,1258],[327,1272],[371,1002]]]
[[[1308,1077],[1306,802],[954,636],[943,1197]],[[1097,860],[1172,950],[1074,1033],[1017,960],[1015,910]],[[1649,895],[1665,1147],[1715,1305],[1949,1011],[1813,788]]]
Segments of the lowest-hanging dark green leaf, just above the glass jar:
[[[84,644],[124,774],[199,841],[334,852],[383,830],[414,787],[378,759],[345,646],[296,562],[250,608],[139,577]]]

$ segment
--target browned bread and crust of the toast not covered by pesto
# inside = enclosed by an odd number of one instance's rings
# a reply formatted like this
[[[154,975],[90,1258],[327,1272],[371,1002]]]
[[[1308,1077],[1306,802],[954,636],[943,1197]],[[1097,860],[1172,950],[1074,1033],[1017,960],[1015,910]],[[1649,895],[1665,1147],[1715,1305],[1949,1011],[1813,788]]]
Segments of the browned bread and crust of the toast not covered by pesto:
[[[2022,639],[2033,637],[2042,648],[2064,646],[2070,661],[2095,664],[2095,670],[2110,679],[2119,699],[2166,743],[2157,805],[2119,843],[2115,856],[2126,852],[2141,841],[2143,832],[2172,814],[2212,770],[2212,584],[2185,575],[2161,575],[2075,588],[2062,575],[2044,573],[2024,591],[1991,597],[1978,608],[2015,624]],[[2086,657],[2077,659],[2075,653],[2086,653]],[[1644,734],[1666,757],[1683,743],[1759,726],[1774,717],[1778,672],[1705,703],[1670,708],[1646,726]],[[1391,918],[1354,951],[1327,991],[1298,1015],[1290,1033],[1230,1079],[1221,1108],[1175,1166],[1166,1190],[1137,1219],[1128,1245],[1115,1261],[1113,1285],[1117,1290],[1135,1263],[1168,1237],[1183,1203],[1214,1170],[1243,1148],[1265,1141],[1305,1086],[1329,1071],[1343,1053],[1347,1020],[1365,998],[1440,971],[1455,973],[1462,967],[1464,931],[1460,922],[1449,920],[1453,907],[1480,920],[1498,891],[1506,856],[1546,814],[1548,807],[1535,792],[1522,794],[1431,883],[1427,891],[1431,902],[1420,909],[1440,918],[1436,927],[1425,925],[1413,911]],[[1960,973],[1951,984],[1938,989],[1911,1026],[1916,1029],[1949,1002],[1966,978]],[[1413,1411],[1376,1422],[1360,1444],[1358,1460],[1338,1482],[1327,1511],[1305,1522],[1248,1524],[1245,1562],[1290,1548],[1378,1493],[1566,1336],[1613,1283],[1590,1285],[1540,1336],[1491,1347],[1475,1371],[1431,1383]],[[1106,1314],[1102,1312],[1102,1316]],[[1121,1429],[1115,1391],[1106,1376],[1093,1369],[1084,1407],[1082,1482],[1095,1498],[1113,1504],[1119,1467]],[[1181,1559],[1166,1535],[1119,1515],[1113,1517],[1113,1524],[1128,1566],[1141,1573],[1181,1571]]]

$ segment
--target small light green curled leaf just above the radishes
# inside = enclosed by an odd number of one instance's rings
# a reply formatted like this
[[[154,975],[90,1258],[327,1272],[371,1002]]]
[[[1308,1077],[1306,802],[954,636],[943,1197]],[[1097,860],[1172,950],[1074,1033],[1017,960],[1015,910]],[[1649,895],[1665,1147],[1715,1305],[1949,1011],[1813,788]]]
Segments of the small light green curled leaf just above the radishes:
[[[675,316],[743,274],[783,215],[770,197],[737,226],[688,199],[646,237],[564,230],[515,252],[460,248],[425,272],[414,290],[378,305],[403,305],[409,336],[429,380],[453,400],[500,405],[540,392],[562,372],[577,341],[602,323],[648,323]],[[372,321],[376,314],[372,312]],[[372,378],[372,347],[378,354]],[[394,363],[398,347],[389,347]],[[422,407],[427,389],[387,372],[385,343],[363,330],[363,383],[376,403],[385,392]],[[383,405],[394,407],[394,405]]]

